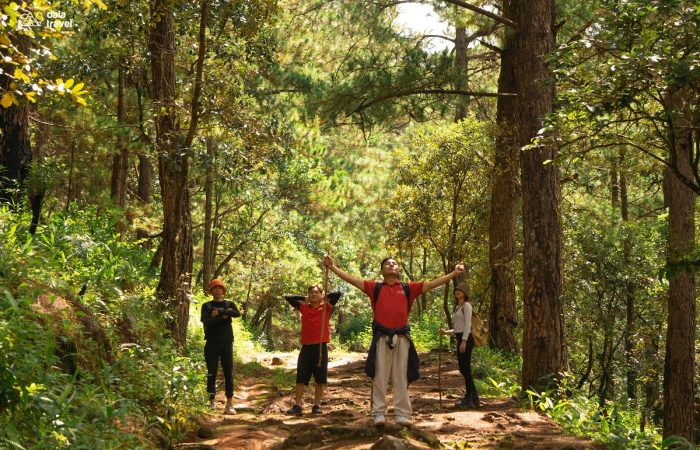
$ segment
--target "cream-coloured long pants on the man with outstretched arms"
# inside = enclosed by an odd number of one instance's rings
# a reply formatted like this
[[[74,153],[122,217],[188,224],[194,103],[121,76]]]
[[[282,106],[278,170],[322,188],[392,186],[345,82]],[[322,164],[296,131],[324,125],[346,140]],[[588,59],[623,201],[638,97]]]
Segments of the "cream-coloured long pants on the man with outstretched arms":
[[[387,336],[377,341],[374,379],[372,381],[373,416],[386,414],[386,390],[391,376],[394,391],[394,415],[411,417],[411,400],[408,398],[408,348],[405,336],[394,336],[394,348],[389,348]]]

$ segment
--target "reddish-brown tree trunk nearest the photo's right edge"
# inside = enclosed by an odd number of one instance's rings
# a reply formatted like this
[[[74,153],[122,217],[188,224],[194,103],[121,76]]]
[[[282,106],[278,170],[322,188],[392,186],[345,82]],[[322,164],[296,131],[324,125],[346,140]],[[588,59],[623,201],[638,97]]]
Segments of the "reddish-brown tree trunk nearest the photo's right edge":
[[[670,114],[670,159],[678,172],[693,179],[693,122],[690,119],[688,88],[672,87]],[[695,247],[695,194],[678,176],[667,170],[668,255],[670,267],[683,261]],[[695,275],[687,266],[676,266],[669,277],[668,328],[664,363],[663,436],[694,436],[693,380],[695,376]]]

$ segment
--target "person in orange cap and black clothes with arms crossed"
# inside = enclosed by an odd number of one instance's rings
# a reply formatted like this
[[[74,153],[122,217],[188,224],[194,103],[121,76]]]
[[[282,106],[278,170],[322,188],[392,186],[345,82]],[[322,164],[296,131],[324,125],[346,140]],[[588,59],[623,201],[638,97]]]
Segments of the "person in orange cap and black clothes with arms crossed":
[[[219,278],[209,283],[209,294],[212,300],[202,305],[202,323],[204,324],[204,360],[207,363],[207,392],[209,407],[216,408],[216,373],[219,361],[224,370],[226,388],[226,407],[224,414],[236,414],[233,408],[233,328],[231,319],[240,317],[236,305],[224,300],[226,286]]]

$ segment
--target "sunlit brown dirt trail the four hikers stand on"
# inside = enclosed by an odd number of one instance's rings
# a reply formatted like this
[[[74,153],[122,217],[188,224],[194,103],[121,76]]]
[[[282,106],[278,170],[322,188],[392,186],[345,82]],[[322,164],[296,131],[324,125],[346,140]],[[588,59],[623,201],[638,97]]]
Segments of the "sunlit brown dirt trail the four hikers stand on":
[[[278,355],[283,356],[283,355]],[[295,354],[283,358],[293,370]],[[332,358],[332,356],[331,356]],[[445,358],[443,358],[445,359]],[[421,379],[410,386],[413,422],[402,428],[393,422],[376,429],[369,417],[370,383],[363,371],[364,355],[331,360],[323,414],[312,415],[311,389],[301,416],[284,414],[293,404],[291,386],[275,392],[259,380],[246,380],[236,392],[235,416],[219,412],[207,418],[215,428],[209,439],[193,437],[186,446],[219,450],[253,449],[369,449],[383,435],[404,439],[414,448],[500,449],[602,449],[590,441],[568,436],[550,421],[520,410],[507,398],[483,398],[478,409],[454,407],[462,394],[462,378],[456,362],[443,361],[443,400],[439,404],[437,357],[421,355]],[[391,398],[391,388],[389,389]],[[391,401],[389,401],[391,405]]]

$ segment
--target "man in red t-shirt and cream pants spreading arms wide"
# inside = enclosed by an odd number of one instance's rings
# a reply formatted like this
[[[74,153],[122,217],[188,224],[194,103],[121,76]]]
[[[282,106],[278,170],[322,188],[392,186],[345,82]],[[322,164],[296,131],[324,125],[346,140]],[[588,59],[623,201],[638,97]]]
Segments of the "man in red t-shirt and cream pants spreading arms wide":
[[[375,281],[364,281],[344,272],[335,265],[330,256],[326,255],[323,264],[370,298],[374,312],[373,339],[370,349],[370,355],[375,354],[372,365],[373,376],[370,375],[372,376],[371,415],[374,417],[374,424],[382,426],[385,423],[386,391],[389,377],[391,377],[396,422],[400,425],[411,425],[413,411],[408,397],[409,349],[414,353],[415,349],[409,337],[408,314],[416,297],[463,273],[464,263],[457,264],[451,273],[432,281],[406,283],[407,289],[404,289],[399,279],[401,272],[399,263],[394,258],[385,258],[381,263],[383,281],[378,292]],[[374,298],[375,295],[377,298]]]

